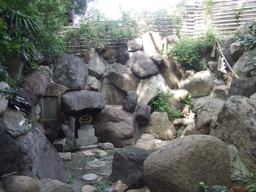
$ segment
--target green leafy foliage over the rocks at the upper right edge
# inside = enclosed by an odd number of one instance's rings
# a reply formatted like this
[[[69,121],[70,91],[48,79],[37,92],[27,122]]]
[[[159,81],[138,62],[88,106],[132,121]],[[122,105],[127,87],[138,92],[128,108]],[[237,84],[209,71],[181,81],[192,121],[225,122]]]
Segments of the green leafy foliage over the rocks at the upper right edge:
[[[238,35],[235,36],[235,40],[237,41],[242,41],[242,44],[248,49],[251,50],[252,52],[256,51],[256,36],[253,34],[256,33],[256,23],[254,23],[252,20],[247,21],[246,25],[252,29],[250,34],[247,34],[245,36],[243,35]],[[256,66],[256,56],[253,58],[254,60],[254,66]]]

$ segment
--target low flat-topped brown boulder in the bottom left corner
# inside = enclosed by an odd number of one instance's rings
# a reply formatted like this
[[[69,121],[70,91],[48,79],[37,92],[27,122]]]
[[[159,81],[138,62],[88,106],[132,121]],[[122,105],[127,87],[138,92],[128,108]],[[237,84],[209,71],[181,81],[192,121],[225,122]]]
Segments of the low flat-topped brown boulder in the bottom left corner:
[[[28,176],[7,176],[2,179],[4,190],[6,192],[38,192],[39,185]]]

